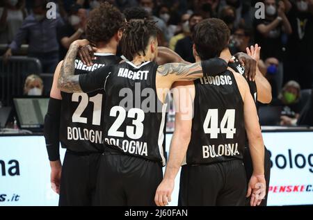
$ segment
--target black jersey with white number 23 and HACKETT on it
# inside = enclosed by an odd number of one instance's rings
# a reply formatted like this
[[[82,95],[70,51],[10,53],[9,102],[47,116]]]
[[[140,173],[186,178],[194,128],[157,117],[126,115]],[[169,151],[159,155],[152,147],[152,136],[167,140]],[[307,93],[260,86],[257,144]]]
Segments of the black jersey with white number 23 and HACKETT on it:
[[[157,98],[155,62],[127,61],[79,76],[84,92],[104,87],[104,146],[107,150],[165,164],[166,104]]]

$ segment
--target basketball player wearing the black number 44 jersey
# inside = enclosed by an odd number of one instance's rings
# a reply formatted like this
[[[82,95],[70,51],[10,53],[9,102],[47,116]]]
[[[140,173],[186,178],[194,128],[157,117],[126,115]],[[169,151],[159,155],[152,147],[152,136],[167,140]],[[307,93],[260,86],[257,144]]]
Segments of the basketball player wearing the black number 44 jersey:
[[[193,33],[195,59],[219,56],[227,48],[229,37],[230,31],[220,19],[200,22]],[[246,132],[253,162],[248,195],[252,192],[252,205],[259,204],[263,196],[259,194],[265,191],[258,189],[259,185],[265,189],[264,144],[246,80],[229,69],[220,76],[175,85],[179,89],[174,92],[175,99],[186,100],[189,117],[177,112],[166,174],[155,196],[157,205],[170,201],[185,155],[179,205],[245,205],[247,185],[242,160]],[[187,95],[182,97],[184,93]]]

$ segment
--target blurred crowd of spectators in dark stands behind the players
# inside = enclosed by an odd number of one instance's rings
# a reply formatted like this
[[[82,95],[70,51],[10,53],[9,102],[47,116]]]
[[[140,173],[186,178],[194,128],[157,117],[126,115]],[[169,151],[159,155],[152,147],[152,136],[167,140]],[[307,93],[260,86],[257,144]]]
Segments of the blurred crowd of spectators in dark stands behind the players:
[[[2,55],[3,60],[14,56],[22,44],[29,44],[27,55],[40,60],[43,72],[53,73],[70,44],[84,38],[88,13],[100,2],[54,1],[56,19],[47,19],[47,1],[1,1],[0,44],[8,46]],[[259,69],[272,85],[272,105],[280,106],[282,112],[286,113],[281,115],[280,124],[296,124],[306,103],[311,101],[311,98],[303,101],[301,96],[303,91],[312,90],[313,84],[313,0],[109,2],[122,12],[130,15],[143,13],[143,17],[154,19],[162,31],[159,44],[168,46],[189,62],[195,61],[191,39],[195,25],[209,17],[223,19],[232,33],[232,53],[246,52],[246,47],[255,43],[262,46]],[[256,14],[262,15],[262,11],[255,8],[258,2],[265,6],[262,18],[256,17]],[[304,96],[309,97],[305,92]]]

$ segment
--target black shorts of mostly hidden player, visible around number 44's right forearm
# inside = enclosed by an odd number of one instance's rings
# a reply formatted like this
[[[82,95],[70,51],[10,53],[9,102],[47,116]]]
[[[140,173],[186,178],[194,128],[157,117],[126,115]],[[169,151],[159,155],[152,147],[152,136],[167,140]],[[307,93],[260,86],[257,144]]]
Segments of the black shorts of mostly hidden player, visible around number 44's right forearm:
[[[270,182],[270,177],[271,177],[271,156],[270,156],[268,149],[266,149],[265,146],[264,146],[264,148],[265,148],[264,149],[264,176],[265,176],[265,180],[266,180],[266,196],[265,196],[264,200],[262,201],[262,203],[260,204],[260,206],[266,206],[267,205],[268,187],[269,187],[269,182]],[[253,172],[253,166],[252,166],[252,158],[251,158],[250,151],[249,151],[248,147],[245,148],[245,155],[243,157],[243,164],[245,164],[247,181],[248,181],[247,183],[249,183],[250,178],[252,176],[252,172]],[[250,197],[247,198],[246,205],[250,206]]]

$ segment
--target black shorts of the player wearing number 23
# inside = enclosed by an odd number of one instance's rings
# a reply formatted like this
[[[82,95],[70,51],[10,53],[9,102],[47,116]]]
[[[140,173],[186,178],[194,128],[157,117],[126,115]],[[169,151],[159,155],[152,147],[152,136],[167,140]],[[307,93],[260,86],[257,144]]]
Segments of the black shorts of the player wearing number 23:
[[[97,205],[154,206],[162,179],[160,162],[106,151],[100,160]]]

